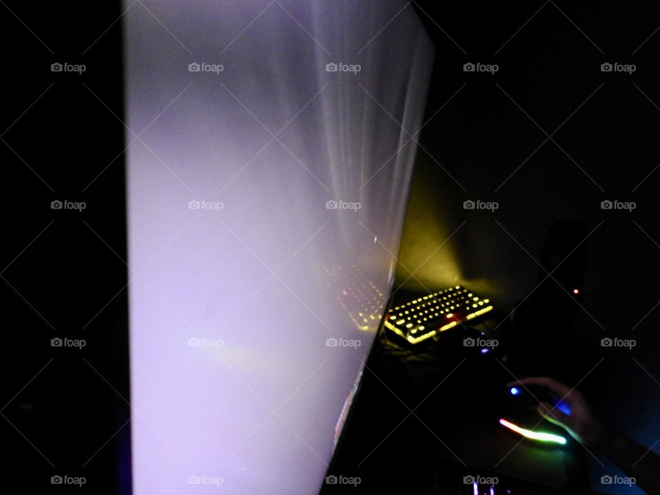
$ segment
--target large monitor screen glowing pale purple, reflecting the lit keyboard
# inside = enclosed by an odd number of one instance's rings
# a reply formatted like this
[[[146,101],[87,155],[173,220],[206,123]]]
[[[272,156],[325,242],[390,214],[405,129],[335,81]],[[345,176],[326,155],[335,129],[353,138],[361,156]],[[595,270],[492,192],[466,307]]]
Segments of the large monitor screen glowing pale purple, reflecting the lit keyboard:
[[[404,5],[124,2],[136,495],[322,486],[430,78]]]

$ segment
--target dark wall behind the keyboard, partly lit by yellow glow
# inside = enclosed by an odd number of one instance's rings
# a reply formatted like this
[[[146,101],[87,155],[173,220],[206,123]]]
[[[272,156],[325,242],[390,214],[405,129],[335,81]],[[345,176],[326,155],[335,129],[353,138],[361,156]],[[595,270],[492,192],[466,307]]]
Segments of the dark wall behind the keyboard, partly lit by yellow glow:
[[[658,5],[417,8],[437,52],[426,124],[415,136],[421,146],[395,286],[435,291],[461,284],[508,312],[538,285],[551,225],[580,221],[588,263],[566,347],[581,342],[584,373],[595,366],[587,380],[593,399],[632,437],[657,448]],[[465,72],[465,63],[498,70]],[[604,63],[635,69],[602,72]],[[498,208],[465,210],[467,200]],[[607,200],[634,202],[635,209],[604,210]],[[559,333],[562,314],[548,307],[538,318],[555,322]],[[606,337],[637,345],[601,347]],[[602,468],[592,464],[592,478],[599,478]]]

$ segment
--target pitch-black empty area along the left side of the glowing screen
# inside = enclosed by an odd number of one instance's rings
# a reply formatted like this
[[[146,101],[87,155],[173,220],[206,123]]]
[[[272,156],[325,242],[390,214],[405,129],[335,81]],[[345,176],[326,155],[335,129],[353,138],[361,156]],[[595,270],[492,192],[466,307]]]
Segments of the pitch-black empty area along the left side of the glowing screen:
[[[110,493],[130,468],[120,5],[0,11],[2,479],[66,491],[51,476],[85,476]],[[85,209],[52,209],[65,200]]]

